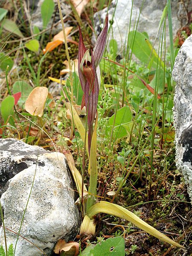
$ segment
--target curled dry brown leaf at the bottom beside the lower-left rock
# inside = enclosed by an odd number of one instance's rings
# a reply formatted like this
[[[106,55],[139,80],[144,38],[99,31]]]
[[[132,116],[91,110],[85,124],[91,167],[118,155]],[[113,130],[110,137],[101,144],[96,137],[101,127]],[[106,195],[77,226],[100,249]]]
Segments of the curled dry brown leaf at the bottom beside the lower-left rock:
[[[59,254],[65,252],[66,256],[77,256],[79,253],[79,243],[69,242],[66,244],[65,240],[60,239],[55,245],[54,253]]]

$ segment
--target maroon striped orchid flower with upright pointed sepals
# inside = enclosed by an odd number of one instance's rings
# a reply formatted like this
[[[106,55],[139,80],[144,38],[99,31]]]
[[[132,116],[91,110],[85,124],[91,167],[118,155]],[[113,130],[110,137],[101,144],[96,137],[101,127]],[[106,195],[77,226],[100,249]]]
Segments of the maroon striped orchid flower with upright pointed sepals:
[[[93,122],[97,111],[97,102],[99,96],[99,82],[96,73],[96,69],[102,59],[103,52],[105,50],[106,38],[108,32],[108,14],[105,18],[105,25],[97,38],[94,50],[91,50],[91,56],[89,49],[84,46],[81,28],[79,27],[79,57],[78,57],[78,71],[79,80],[82,90],[84,92],[81,109],[85,106],[87,111],[87,125],[88,125],[88,149],[90,153],[91,139],[93,135]]]

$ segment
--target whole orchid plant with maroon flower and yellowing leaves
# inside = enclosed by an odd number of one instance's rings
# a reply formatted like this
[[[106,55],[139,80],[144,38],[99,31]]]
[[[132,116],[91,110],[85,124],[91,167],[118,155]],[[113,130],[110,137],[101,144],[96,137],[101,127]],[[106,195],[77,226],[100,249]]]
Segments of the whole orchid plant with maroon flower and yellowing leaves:
[[[84,95],[82,97],[81,108],[85,106],[87,111],[87,126],[88,126],[88,135],[86,128],[81,122],[79,115],[76,111],[75,105],[73,102],[67,101],[65,102],[67,108],[70,109],[71,114],[73,116],[73,122],[76,125],[76,128],[79,131],[81,139],[84,141],[84,147],[87,149],[87,154],[89,157],[89,189],[87,192],[87,188],[81,180],[81,175],[76,167],[70,166],[72,171],[72,175],[77,185],[77,189],[79,191],[79,195],[83,198],[84,195],[88,195],[87,201],[84,200],[84,216],[83,221],[81,223],[80,234],[87,233],[93,234],[96,230],[96,224],[93,221],[93,216],[99,212],[104,212],[110,215],[116,215],[119,218],[124,218],[145,232],[155,236],[156,238],[168,242],[176,247],[184,248],[182,245],[168,238],[167,236],[160,233],[154,227],[151,227],[145,221],[140,219],[133,212],[128,211],[127,209],[113,204],[107,201],[99,201],[96,202],[96,186],[97,186],[97,164],[96,164],[96,128],[97,128],[97,103],[99,96],[99,78],[97,73],[99,70],[99,63],[102,59],[102,55],[105,50],[106,38],[108,32],[108,15],[105,18],[105,25],[102,29],[101,34],[99,35],[96,45],[91,54],[89,50],[85,48],[81,28],[79,28],[79,79],[81,83],[82,90]],[[96,117],[95,125],[93,128],[93,123]],[[87,142],[88,141],[88,142]],[[66,155],[67,156],[67,155]],[[67,156],[69,158],[69,155]]]

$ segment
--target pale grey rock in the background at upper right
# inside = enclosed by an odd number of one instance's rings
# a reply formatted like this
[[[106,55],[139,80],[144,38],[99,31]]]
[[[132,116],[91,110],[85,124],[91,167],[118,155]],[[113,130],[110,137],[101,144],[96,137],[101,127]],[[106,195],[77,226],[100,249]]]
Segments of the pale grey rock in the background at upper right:
[[[180,2],[187,2],[183,6]],[[187,9],[192,9],[192,1],[180,1],[172,0],[172,28],[173,34],[176,35],[177,29],[184,26],[187,22]],[[113,36],[112,30],[109,32],[109,41],[114,38],[117,41],[119,55],[126,49],[127,39],[128,39],[128,30],[130,24],[131,16],[131,30],[134,30],[134,26],[137,25],[137,20],[140,14],[139,23],[137,26],[137,31],[147,32],[149,40],[154,44],[155,37],[158,31],[161,15],[163,14],[163,9],[166,5],[166,1],[160,0],[134,0],[132,8],[132,0],[113,0],[111,6],[105,8],[94,15],[94,23],[96,34],[99,35],[101,32],[101,26],[105,22],[105,15],[108,10],[109,20],[113,20]],[[132,11],[131,11],[132,9]],[[132,15],[131,15],[132,12]],[[113,16],[114,14],[114,16]],[[135,23],[136,21],[136,23]],[[159,36],[155,44],[155,48],[158,49]],[[95,42],[95,36],[93,36],[93,42]],[[109,42],[108,41],[108,42]],[[168,25],[166,28],[166,45],[169,45],[169,30]]]

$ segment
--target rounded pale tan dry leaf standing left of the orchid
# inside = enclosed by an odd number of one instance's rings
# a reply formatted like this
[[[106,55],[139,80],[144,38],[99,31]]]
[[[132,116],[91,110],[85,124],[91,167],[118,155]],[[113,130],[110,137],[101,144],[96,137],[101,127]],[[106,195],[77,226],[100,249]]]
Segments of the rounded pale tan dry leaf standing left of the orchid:
[[[33,116],[43,116],[47,95],[47,87],[42,86],[34,88],[26,99],[26,111]]]

